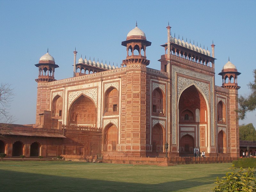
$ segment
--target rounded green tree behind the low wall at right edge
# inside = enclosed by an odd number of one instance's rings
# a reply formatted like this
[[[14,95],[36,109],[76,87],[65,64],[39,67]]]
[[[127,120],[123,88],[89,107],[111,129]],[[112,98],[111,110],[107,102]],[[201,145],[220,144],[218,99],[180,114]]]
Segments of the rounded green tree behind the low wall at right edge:
[[[242,124],[239,126],[239,139],[246,141],[256,141],[256,130],[253,124]]]

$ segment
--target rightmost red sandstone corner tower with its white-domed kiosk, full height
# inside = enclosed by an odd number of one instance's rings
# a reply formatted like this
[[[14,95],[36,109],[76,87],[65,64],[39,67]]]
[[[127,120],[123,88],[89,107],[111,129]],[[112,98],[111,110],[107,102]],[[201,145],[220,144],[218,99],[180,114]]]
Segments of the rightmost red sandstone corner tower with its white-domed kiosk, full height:
[[[222,87],[229,91],[229,111],[228,111],[228,137],[230,138],[230,156],[239,157],[239,125],[238,125],[238,89],[237,76],[240,75],[236,66],[229,61],[222,68],[219,75],[222,76]]]

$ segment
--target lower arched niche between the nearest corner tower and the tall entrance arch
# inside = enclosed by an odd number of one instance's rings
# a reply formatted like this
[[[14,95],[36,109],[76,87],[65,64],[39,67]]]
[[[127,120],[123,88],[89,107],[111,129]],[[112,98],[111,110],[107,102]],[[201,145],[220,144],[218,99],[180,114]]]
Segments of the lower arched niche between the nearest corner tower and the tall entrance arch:
[[[164,136],[163,129],[159,124],[152,128],[151,132],[152,152],[163,152]]]

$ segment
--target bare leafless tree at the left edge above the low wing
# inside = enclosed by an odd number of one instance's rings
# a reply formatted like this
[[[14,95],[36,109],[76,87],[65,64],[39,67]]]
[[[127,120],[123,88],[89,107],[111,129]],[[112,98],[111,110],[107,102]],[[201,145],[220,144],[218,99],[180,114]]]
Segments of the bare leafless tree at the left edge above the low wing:
[[[8,129],[15,119],[12,115],[9,115],[11,102],[13,100],[14,92],[10,87],[10,84],[1,83],[0,86],[0,137],[4,136],[4,131]]]

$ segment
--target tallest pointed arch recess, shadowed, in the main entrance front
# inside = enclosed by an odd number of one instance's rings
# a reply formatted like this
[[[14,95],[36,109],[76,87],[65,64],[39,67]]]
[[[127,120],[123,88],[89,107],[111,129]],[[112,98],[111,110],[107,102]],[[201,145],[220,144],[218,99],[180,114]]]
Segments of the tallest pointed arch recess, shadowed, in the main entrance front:
[[[207,127],[206,100],[196,86],[191,85],[181,93],[179,99],[180,156],[194,156],[194,149],[191,149],[192,143],[194,148],[199,148],[200,151],[206,150]]]

